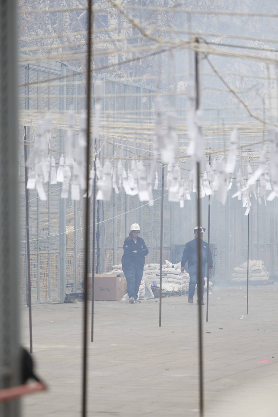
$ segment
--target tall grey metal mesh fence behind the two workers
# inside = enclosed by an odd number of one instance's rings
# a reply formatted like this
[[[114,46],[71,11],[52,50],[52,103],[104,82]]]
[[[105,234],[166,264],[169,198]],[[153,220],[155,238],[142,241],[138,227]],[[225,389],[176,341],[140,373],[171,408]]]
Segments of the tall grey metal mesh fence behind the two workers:
[[[85,108],[85,86],[78,69],[61,63],[39,65],[21,65],[19,68],[20,84],[57,79],[66,75],[67,83],[58,80],[45,84],[32,84],[20,88],[20,109],[30,111],[62,112],[70,107],[75,111]],[[117,118],[124,123],[133,121],[137,126],[140,139],[140,120],[154,116],[156,90],[146,85],[119,82],[113,78],[99,75],[104,80],[105,99],[103,110],[109,126]],[[166,96],[167,97],[167,96]],[[167,109],[170,103],[164,98]],[[185,120],[185,98],[176,99],[175,106],[182,121]],[[55,129],[51,147],[56,151],[64,150],[65,131]],[[27,126],[27,139],[32,143],[34,131]],[[20,126],[20,278],[21,294],[26,299],[26,239],[25,239],[25,178],[23,126]],[[73,146],[75,137],[73,138]],[[116,142],[116,141],[114,141]],[[119,156],[116,143],[108,141],[105,145],[105,157]],[[29,142],[28,142],[29,143]],[[125,140],[123,159],[130,156]],[[148,146],[136,143],[135,153],[144,153],[144,165],[149,169],[151,156]],[[58,155],[58,156],[57,156]],[[58,161],[59,154],[56,155]],[[101,154],[100,154],[101,156]],[[129,162],[125,160],[125,168]],[[183,167],[183,164],[182,164]],[[185,167],[185,165],[184,165]],[[187,163],[186,169],[191,169]],[[161,178],[161,166],[158,165],[158,177]],[[184,176],[188,171],[184,170]],[[112,193],[110,201],[97,203],[96,207],[96,253],[95,268],[97,272],[108,271],[114,264],[121,263],[123,241],[129,233],[130,225],[140,224],[142,237],[149,248],[147,261],[158,262],[160,259],[160,201],[161,184],[153,191],[154,205],[141,203],[138,196],[127,196],[123,188],[118,194]],[[235,186],[233,186],[234,188]],[[58,184],[44,185],[47,201],[38,199],[37,191],[29,191],[30,211],[30,269],[32,299],[36,301],[63,301],[66,292],[78,292],[83,288],[84,269],[84,226],[85,199],[72,201],[60,198]],[[233,188],[231,194],[233,193]],[[167,190],[164,199],[163,259],[180,261],[179,244],[193,239],[193,227],[196,225],[196,199],[184,202],[184,208],[178,203],[168,201]],[[208,226],[208,198],[201,201],[202,224]],[[275,216],[277,203],[259,205],[253,201],[250,211],[250,259],[261,259],[271,275],[277,274],[278,225]],[[90,224],[93,224],[93,208]],[[91,227],[91,244],[92,244]],[[204,238],[205,239],[205,238]],[[210,241],[213,244],[215,275],[218,279],[229,279],[233,267],[247,259],[247,216],[244,216],[241,202],[227,199],[222,206],[216,199],[211,202]],[[182,246],[182,245],[181,245]],[[92,247],[92,245],[91,245]],[[90,256],[92,271],[92,256]]]

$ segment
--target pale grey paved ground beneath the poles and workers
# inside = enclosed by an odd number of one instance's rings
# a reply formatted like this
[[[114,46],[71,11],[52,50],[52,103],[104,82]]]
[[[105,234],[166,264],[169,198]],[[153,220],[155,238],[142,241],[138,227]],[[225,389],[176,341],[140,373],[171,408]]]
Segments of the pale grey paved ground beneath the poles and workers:
[[[204,306],[205,417],[276,417],[278,286],[216,288]],[[196,302],[196,297],[194,303]],[[33,348],[45,393],[23,399],[23,417],[80,416],[83,304],[33,306]],[[90,313],[90,311],[89,311]],[[95,302],[88,416],[198,417],[197,305]],[[22,338],[28,346],[28,309]]]

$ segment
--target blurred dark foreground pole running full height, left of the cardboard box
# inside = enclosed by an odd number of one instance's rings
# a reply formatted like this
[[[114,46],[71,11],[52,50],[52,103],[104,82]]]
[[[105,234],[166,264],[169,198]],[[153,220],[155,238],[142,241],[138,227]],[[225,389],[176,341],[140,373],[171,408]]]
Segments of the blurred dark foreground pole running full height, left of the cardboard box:
[[[86,228],[85,228],[85,271],[84,271],[84,305],[83,305],[83,372],[82,372],[82,417],[87,415],[87,328],[88,328],[88,266],[90,259],[90,197],[89,197],[89,164],[90,164],[90,103],[91,103],[91,70],[92,70],[92,32],[93,32],[93,0],[88,0],[88,59],[87,59],[87,196],[86,196]],[[93,219],[95,223],[95,218]],[[94,271],[94,265],[93,265]],[[94,272],[92,274],[94,276]],[[93,291],[93,289],[92,289]],[[94,299],[94,297],[93,297]]]

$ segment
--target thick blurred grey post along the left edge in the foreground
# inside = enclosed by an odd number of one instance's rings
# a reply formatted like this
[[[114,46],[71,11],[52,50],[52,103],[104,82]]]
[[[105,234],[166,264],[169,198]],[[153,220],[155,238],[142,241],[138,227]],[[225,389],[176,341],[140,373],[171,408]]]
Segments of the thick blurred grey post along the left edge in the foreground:
[[[0,2],[0,390],[20,382],[17,2]],[[19,417],[18,399],[0,416]]]

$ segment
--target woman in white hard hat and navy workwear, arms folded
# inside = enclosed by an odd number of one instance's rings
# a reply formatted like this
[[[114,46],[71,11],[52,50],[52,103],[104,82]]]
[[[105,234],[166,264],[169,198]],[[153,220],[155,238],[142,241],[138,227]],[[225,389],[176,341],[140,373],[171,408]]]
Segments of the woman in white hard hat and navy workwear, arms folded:
[[[145,256],[149,251],[145,242],[139,237],[140,226],[133,223],[130,233],[123,244],[122,269],[128,286],[129,302],[141,302],[138,300],[139,286],[143,276]]]

